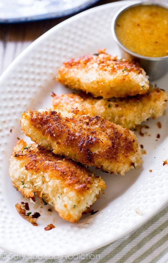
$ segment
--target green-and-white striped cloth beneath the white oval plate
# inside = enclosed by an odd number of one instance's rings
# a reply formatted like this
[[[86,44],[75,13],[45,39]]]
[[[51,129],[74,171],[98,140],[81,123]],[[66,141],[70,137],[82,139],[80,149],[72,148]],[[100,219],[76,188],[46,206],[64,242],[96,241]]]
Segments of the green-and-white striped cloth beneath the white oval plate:
[[[53,259],[42,255],[35,255],[34,259],[28,255],[23,257],[0,249],[0,262],[3,263],[168,263],[168,204],[138,229],[85,255],[69,255],[69,259],[65,255]]]

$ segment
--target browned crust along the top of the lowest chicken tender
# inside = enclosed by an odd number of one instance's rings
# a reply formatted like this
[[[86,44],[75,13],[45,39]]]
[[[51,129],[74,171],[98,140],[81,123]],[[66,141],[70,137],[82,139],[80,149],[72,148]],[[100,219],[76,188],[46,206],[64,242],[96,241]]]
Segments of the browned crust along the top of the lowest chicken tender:
[[[23,140],[20,140],[17,143],[17,148],[18,150],[14,150],[13,156],[24,162],[27,171],[39,174],[47,172],[50,179],[59,179],[63,181],[65,187],[71,187],[80,193],[89,189],[93,182],[89,171],[84,167],[63,156],[37,147],[37,144],[27,145]]]

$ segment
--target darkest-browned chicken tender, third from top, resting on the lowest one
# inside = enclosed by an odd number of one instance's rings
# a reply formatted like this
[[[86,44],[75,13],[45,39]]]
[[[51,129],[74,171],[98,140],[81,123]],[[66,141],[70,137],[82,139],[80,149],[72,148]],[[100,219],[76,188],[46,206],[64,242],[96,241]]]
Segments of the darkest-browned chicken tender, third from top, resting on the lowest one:
[[[45,149],[111,174],[141,164],[135,134],[100,116],[68,118],[52,110],[29,110],[21,116],[21,128]]]

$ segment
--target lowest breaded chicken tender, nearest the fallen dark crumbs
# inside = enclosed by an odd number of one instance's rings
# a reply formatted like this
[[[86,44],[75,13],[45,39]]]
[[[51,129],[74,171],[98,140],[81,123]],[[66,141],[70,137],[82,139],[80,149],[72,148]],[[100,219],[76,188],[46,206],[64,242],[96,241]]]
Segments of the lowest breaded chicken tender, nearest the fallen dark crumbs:
[[[105,190],[105,182],[72,160],[18,141],[10,160],[9,175],[22,195],[54,206],[59,215],[77,222]]]

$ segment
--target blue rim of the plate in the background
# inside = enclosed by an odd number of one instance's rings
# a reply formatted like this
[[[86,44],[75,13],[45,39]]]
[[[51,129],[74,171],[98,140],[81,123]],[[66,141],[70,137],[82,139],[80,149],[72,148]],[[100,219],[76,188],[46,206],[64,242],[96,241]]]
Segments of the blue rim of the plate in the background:
[[[41,15],[34,15],[34,16],[28,16],[28,17],[18,17],[18,18],[3,18],[0,19],[0,23],[7,24],[7,23],[24,23],[24,22],[31,22],[31,21],[39,21],[39,20],[46,20],[46,19],[53,19],[53,18],[61,18],[65,17],[77,12],[80,12],[81,10],[88,8],[89,6],[95,4],[99,0],[88,0],[85,3],[75,7],[75,8],[69,8],[65,11],[60,12],[54,12],[54,13],[46,13]]]

